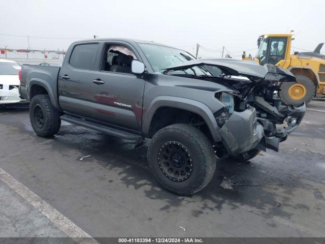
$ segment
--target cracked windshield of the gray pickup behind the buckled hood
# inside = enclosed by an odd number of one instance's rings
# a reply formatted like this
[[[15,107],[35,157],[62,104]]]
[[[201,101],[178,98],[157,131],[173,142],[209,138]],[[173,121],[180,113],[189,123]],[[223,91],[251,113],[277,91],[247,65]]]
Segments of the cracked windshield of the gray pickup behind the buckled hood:
[[[139,46],[143,50],[155,72],[163,73],[165,68],[195,59],[189,53],[172,47],[146,43],[139,43]],[[203,67],[192,67],[186,70],[170,72],[173,74],[211,75]]]

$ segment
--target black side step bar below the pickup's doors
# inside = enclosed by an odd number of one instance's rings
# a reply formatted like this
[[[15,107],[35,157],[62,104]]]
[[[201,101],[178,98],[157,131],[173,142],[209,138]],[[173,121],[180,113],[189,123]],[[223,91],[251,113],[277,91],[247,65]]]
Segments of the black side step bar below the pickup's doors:
[[[102,126],[102,125],[95,124],[93,122],[90,122],[90,121],[87,121],[87,120],[84,120],[84,119],[81,119],[81,118],[76,118],[76,117],[73,117],[73,116],[69,116],[69,115],[66,115],[66,114],[60,116],[60,118],[62,120],[64,120],[64,121],[69,122],[69,123],[72,123],[72,124],[75,124],[75,125],[78,125],[78,126],[83,126],[83,127],[88,128],[88,129],[99,131],[99,132],[102,132],[102,133],[105,133],[105,134],[108,134],[108,135],[111,135],[111,136],[120,137],[122,139],[127,139],[127,140],[139,140],[139,139],[141,139],[140,135],[136,135],[136,134],[133,134],[133,133],[130,133],[130,132],[125,132],[125,131],[118,130],[118,129],[115,129],[115,128],[112,128],[112,127]]]

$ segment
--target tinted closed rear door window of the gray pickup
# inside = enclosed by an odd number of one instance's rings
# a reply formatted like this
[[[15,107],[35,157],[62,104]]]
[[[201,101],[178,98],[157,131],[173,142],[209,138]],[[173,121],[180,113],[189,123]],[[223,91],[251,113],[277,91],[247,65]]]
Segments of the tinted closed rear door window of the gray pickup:
[[[70,65],[77,69],[91,70],[95,62],[98,44],[77,45],[72,51]]]

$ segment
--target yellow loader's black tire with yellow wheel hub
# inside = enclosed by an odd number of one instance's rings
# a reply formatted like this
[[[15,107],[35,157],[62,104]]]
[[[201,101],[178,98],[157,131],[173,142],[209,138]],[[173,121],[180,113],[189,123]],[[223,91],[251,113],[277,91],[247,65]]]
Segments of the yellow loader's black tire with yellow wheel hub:
[[[286,105],[299,106],[303,102],[308,104],[315,97],[316,89],[311,79],[303,75],[297,75],[296,80],[302,86],[296,82],[283,82],[281,84],[279,96]],[[294,89],[295,85],[297,85],[297,89]]]

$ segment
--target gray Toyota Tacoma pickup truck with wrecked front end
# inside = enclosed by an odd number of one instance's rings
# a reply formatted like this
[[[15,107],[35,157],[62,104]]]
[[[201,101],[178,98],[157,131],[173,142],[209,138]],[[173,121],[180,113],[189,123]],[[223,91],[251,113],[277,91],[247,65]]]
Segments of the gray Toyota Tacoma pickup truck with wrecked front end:
[[[305,104],[283,104],[282,82],[296,80],[274,65],[95,39],[73,43],[61,67],[23,65],[19,91],[30,101],[37,135],[55,135],[66,120],[123,139],[149,138],[157,180],[189,195],[209,183],[216,156],[248,160],[266,148],[277,151],[299,126]]]

